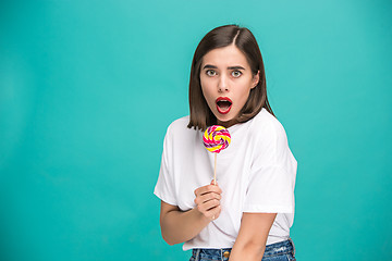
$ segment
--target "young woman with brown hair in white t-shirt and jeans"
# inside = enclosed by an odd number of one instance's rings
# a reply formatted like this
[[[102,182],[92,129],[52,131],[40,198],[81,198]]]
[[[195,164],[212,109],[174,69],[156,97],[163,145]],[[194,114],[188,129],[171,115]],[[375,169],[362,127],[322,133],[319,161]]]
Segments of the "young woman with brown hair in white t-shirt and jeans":
[[[261,53],[253,34],[226,25],[199,42],[192,63],[191,115],[174,121],[163,144],[155,194],[169,245],[191,260],[295,260],[296,160],[268,103]],[[203,145],[210,125],[229,129],[218,156]]]

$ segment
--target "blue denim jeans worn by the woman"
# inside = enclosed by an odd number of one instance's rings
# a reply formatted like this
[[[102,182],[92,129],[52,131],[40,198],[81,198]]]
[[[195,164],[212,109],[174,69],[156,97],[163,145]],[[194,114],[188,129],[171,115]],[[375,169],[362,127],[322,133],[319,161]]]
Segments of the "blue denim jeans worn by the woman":
[[[228,261],[231,248],[192,250],[189,261]],[[280,241],[266,246],[262,261],[295,261],[295,247],[293,240]]]

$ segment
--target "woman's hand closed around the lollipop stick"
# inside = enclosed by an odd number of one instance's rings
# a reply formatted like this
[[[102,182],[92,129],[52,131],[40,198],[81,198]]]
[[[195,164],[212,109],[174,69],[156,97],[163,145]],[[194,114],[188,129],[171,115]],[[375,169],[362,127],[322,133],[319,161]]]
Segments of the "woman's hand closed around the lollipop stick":
[[[220,200],[222,190],[213,181],[210,185],[199,187],[195,190],[196,210],[200,212],[209,221],[218,219],[221,212]]]

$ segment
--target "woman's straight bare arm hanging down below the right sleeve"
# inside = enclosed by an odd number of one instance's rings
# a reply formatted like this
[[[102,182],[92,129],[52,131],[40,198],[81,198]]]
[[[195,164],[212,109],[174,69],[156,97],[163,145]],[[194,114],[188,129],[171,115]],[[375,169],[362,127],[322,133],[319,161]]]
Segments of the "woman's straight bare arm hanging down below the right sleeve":
[[[230,261],[260,261],[277,213],[244,213]]]

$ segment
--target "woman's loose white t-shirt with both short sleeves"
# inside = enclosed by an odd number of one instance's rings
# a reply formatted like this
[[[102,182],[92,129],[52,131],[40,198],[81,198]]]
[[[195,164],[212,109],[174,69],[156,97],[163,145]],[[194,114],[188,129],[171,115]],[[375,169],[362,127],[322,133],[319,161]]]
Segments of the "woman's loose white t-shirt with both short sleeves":
[[[167,130],[162,162],[154,194],[182,211],[196,207],[194,190],[213,178],[213,153],[203,144],[203,132],[187,128],[189,117],[174,121]],[[246,123],[228,128],[230,146],[217,158],[217,182],[222,189],[219,217],[196,237],[192,248],[232,248],[243,212],[278,213],[267,245],[289,238],[294,220],[297,163],[280,122],[266,109]]]

